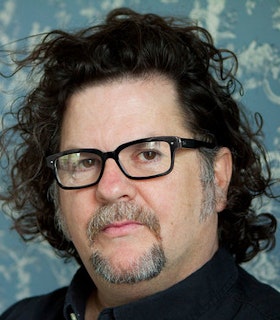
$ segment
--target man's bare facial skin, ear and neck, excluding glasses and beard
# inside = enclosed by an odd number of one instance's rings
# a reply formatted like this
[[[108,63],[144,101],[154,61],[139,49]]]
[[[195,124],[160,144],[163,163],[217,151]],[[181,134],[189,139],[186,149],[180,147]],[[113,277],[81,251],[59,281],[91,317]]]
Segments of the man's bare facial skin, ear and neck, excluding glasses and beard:
[[[175,86],[163,76],[128,77],[90,85],[67,102],[60,150],[96,148],[106,152],[125,142],[152,136],[193,138],[182,121]],[[87,316],[94,314],[94,301],[102,309],[164,290],[199,269],[217,251],[217,213],[224,208],[225,201],[217,199],[213,212],[200,219],[203,202],[200,164],[198,150],[181,149],[176,152],[170,174],[131,180],[113,159],[108,159],[97,185],[59,190],[69,236],[97,286],[97,292],[89,299]],[[225,194],[231,175],[231,154],[227,148],[218,152],[214,173],[215,184]],[[146,226],[132,222],[101,232],[92,245],[87,226],[95,210],[120,201],[151,209],[159,220],[160,239]],[[131,262],[157,242],[161,243],[167,262],[151,280],[112,285],[97,275],[90,263],[93,250],[99,250],[112,266],[129,269]]]

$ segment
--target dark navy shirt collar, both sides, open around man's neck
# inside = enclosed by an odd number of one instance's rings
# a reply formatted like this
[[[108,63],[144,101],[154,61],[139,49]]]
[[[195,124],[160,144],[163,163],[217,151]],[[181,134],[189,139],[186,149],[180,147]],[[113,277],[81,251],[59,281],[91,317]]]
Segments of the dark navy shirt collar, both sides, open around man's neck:
[[[226,250],[219,249],[209,262],[171,288],[102,313],[114,314],[117,320],[186,319],[186,316],[192,319],[218,303],[233,286],[237,276],[232,256]],[[77,319],[84,319],[86,300],[94,287],[85,269],[78,270],[66,296],[66,319],[71,319],[71,310]]]

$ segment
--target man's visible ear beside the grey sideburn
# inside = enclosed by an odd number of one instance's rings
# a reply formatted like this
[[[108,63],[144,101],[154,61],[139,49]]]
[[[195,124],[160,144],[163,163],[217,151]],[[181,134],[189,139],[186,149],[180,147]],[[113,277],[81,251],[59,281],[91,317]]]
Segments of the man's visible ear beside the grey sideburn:
[[[232,155],[228,148],[221,148],[215,158],[214,175],[216,186],[216,211],[226,206],[227,191],[232,174]]]

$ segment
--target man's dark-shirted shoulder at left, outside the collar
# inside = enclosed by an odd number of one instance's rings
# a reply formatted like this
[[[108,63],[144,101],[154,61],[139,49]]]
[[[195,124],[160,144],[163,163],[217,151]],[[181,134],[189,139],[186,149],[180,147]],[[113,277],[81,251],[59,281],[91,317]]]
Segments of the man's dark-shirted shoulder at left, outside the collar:
[[[63,305],[67,288],[61,288],[49,294],[23,299],[1,316],[0,320],[54,320],[62,319]]]

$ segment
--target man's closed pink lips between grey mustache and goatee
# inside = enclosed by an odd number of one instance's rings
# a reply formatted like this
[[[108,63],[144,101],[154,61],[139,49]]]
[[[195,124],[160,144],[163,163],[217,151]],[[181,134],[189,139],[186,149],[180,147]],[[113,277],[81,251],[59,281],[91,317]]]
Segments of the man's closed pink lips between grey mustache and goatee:
[[[105,226],[101,232],[111,237],[123,237],[143,227],[137,221],[118,221]]]

